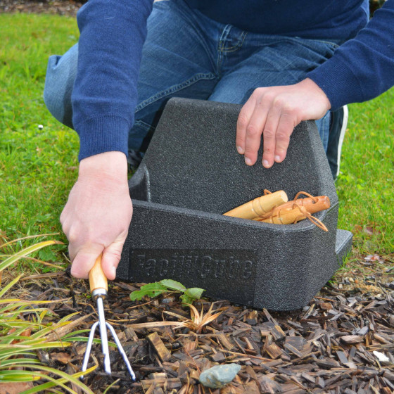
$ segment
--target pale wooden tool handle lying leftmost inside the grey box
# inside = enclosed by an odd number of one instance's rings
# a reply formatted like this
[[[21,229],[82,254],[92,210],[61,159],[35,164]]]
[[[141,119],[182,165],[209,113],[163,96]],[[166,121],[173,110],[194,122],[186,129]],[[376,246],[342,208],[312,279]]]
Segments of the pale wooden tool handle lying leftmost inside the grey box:
[[[275,191],[275,193],[255,198],[233,210],[229,210],[229,212],[223,215],[241,217],[242,219],[255,219],[269,212],[275,206],[286,203],[287,201],[287,194],[283,190],[279,190]]]

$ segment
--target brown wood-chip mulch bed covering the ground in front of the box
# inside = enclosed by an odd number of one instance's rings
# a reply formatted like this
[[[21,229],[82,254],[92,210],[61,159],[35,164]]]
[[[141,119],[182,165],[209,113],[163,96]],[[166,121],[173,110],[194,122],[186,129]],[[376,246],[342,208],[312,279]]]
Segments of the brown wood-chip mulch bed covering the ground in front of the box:
[[[371,283],[372,279],[367,279]],[[86,281],[65,272],[25,278],[34,300],[70,297],[52,304],[58,319],[71,312],[87,316],[80,326],[96,321]],[[88,367],[100,365],[86,377],[94,393],[392,393],[394,390],[393,284],[374,281],[374,292],[359,293],[342,281],[342,289],[324,287],[303,310],[252,310],[228,301],[195,303],[203,314],[222,312],[213,322],[190,329],[160,326],[160,322],[190,319],[176,294],[132,302],[129,294],[139,285],[113,282],[106,319],[113,324],[136,373],[133,383],[117,350],[111,350],[113,375],[101,367],[99,345],[94,345]],[[365,282],[365,280],[364,280]],[[349,282],[350,283],[350,282]],[[354,283],[354,280],[353,280]],[[212,312],[209,313],[209,308]],[[156,322],[153,328],[144,328]],[[190,321],[189,321],[190,322]],[[64,371],[80,370],[86,343],[75,343],[61,353],[40,352],[39,358]],[[66,352],[66,353],[64,353]],[[375,352],[375,353],[374,353]],[[383,361],[381,355],[386,355]],[[381,361],[379,361],[381,360]],[[215,364],[241,365],[236,379],[220,390],[198,382],[201,372]]]

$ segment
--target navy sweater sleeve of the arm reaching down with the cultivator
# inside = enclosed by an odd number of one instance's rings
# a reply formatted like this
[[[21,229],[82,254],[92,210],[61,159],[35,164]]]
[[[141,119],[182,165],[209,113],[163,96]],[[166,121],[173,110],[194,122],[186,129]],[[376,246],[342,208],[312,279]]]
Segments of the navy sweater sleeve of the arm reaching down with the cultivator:
[[[77,14],[80,40],[72,123],[80,136],[80,160],[106,151],[127,154],[152,4],[89,0]]]

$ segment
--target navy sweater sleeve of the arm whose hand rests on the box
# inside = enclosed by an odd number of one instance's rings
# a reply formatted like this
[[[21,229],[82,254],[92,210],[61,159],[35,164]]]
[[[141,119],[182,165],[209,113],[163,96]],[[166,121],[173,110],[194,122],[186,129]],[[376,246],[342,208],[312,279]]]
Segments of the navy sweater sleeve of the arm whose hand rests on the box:
[[[370,100],[394,85],[394,0],[374,13],[354,39],[307,74],[336,110]]]

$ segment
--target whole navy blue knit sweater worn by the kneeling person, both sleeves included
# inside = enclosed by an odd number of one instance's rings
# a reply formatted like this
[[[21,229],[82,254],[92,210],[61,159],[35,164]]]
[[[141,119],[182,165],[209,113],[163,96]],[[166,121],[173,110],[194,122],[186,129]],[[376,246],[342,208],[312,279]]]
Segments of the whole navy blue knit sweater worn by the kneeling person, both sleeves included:
[[[394,0],[368,21],[367,0],[184,0],[209,18],[243,30],[346,41],[307,77],[335,110],[394,85]],[[72,92],[80,160],[127,153],[146,20],[153,0],[89,0],[77,15],[78,71]],[[357,34],[358,33],[358,34]]]

